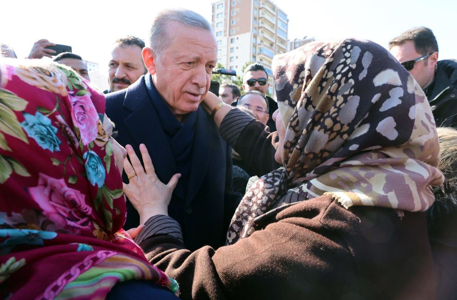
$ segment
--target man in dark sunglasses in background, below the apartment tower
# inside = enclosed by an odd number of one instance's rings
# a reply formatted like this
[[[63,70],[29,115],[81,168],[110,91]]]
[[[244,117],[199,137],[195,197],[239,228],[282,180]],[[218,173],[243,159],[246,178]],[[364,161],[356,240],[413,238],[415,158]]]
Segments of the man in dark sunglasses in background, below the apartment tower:
[[[268,92],[268,74],[261,64],[251,64],[245,68],[243,76],[243,90],[245,92],[259,91],[268,100],[268,115],[270,115],[266,125],[270,127],[270,132],[276,131],[276,124],[273,121],[273,113],[277,110],[277,102],[271,97],[266,96]]]

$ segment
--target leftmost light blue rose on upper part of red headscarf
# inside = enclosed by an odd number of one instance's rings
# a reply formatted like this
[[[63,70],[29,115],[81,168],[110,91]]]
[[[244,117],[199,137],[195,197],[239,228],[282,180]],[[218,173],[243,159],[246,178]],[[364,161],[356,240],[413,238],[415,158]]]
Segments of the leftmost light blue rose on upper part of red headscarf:
[[[35,116],[27,113],[23,115],[25,120],[21,126],[27,135],[32,137],[43,149],[49,149],[51,152],[60,151],[59,145],[62,142],[57,137],[57,128],[52,126],[49,117],[39,112],[36,112]]]

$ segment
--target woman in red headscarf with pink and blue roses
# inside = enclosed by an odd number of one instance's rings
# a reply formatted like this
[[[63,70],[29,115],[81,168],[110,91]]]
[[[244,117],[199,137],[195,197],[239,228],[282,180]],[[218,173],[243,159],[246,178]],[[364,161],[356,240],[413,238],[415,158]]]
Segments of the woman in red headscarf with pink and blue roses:
[[[104,102],[70,68],[0,60],[1,299],[177,298],[122,230],[125,150]]]

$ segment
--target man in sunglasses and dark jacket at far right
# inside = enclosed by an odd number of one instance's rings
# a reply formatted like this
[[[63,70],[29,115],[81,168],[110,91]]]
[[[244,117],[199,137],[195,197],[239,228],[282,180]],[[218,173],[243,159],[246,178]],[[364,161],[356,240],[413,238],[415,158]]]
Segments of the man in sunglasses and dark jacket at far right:
[[[416,79],[437,126],[457,128],[457,62],[438,61],[438,43],[426,27],[407,30],[389,42],[391,54]]]

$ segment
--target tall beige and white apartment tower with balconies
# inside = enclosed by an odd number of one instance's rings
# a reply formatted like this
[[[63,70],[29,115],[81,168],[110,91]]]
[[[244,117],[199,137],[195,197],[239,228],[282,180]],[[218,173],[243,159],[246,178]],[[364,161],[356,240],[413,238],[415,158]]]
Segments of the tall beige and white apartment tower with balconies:
[[[212,27],[218,62],[241,74],[247,62],[262,63],[273,95],[273,56],[287,51],[287,15],[270,0],[212,2]]]

